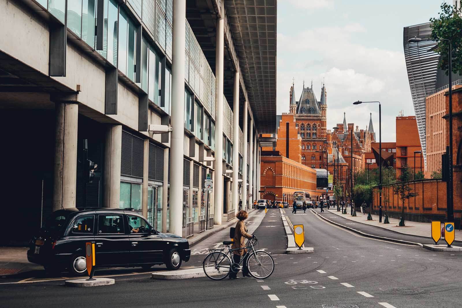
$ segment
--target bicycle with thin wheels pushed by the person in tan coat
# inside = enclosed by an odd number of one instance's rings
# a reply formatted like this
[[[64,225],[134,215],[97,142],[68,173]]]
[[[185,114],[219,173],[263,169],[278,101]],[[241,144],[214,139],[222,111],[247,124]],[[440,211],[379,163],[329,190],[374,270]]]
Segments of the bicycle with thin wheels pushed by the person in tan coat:
[[[221,280],[225,279],[231,272],[238,272],[241,270],[241,262],[247,257],[247,268],[249,269],[249,274],[257,279],[266,279],[274,272],[274,260],[273,258],[262,250],[255,250],[254,245],[258,242],[256,236],[247,242],[247,245],[244,247],[248,251],[244,254],[244,257],[241,258],[239,263],[235,263],[232,259],[232,252],[244,248],[234,248],[231,249],[230,245],[233,242],[224,241],[228,250],[226,253],[223,251],[226,249],[209,249],[211,252],[207,254],[204,261],[202,262],[202,267],[206,276],[212,280]]]

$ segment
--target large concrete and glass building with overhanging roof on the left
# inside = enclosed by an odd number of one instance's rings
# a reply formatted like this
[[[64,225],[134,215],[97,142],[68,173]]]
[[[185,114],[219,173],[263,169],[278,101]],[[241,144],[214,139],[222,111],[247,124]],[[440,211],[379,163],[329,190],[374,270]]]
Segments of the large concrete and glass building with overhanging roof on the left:
[[[275,0],[0,7],[4,215],[22,226],[3,223],[18,231],[1,243],[27,242],[51,211],[90,206],[131,207],[189,236],[256,194],[257,136],[275,131]],[[91,183],[85,157],[98,165]]]

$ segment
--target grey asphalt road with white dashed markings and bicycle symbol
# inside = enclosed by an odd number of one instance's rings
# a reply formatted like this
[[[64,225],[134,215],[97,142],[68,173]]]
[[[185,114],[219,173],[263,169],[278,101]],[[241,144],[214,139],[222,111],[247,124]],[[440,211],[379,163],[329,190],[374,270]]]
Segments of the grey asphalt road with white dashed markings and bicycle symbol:
[[[153,280],[141,273],[113,277],[114,285],[88,289],[65,287],[62,280],[2,284],[1,306],[459,306],[461,253],[372,240],[326,223],[309,211],[285,212],[290,223],[304,224],[305,247],[313,247],[315,252],[285,254],[287,240],[280,211],[269,210],[254,232],[260,248],[271,252],[276,263],[273,275],[264,281],[242,276],[238,280],[168,281]],[[203,257],[195,255],[191,261]]]

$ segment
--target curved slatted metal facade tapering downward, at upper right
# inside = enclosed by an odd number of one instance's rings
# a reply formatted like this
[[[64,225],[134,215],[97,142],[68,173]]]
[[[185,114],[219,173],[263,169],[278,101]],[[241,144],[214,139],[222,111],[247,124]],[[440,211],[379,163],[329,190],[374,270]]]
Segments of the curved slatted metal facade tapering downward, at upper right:
[[[404,27],[403,32],[407,77],[426,164],[425,98],[433,94],[436,88],[439,54],[432,51],[432,48],[437,45],[437,42],[407,42],[414,36],[428,39],[432,34],[430,23]]]

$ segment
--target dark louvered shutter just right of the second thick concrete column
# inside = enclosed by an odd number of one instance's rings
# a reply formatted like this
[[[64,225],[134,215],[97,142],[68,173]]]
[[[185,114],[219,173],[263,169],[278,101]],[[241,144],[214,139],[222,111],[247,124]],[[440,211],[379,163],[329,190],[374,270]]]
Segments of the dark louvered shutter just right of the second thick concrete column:
[[[121,175],[143,178],[144,140],[122,130]]]

